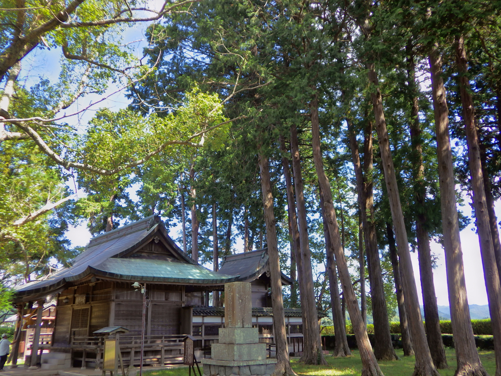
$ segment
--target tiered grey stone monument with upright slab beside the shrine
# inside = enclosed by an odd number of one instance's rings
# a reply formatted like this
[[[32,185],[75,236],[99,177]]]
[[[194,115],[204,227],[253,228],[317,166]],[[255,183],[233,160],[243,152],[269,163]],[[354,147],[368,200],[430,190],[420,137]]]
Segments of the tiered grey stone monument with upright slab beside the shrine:
[[[250,283],[224,285],[224,328],[213,343],[211,358],[202,359],[204,376],[270,376],[277,359],[266,358],[266,343],[259,343],[259,329],[252,327]]]

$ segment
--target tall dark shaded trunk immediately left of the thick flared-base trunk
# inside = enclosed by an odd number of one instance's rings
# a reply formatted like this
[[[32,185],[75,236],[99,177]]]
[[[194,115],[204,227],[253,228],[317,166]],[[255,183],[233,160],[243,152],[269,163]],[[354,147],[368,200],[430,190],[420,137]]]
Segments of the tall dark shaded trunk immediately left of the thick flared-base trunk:
[[[419,258],[419,275],[421,278],[421,292],[424,305],[424,322],[426,326],[426,339],[430,347],[431,357],[435,367],[438,369],[447,368],[447,358],[440,332],[440,318],[438,316],[438,306],[433,284],[433,268],[431,265],[431,250],[428,231],[426,230],[425,196],[426,186],[424,181],[424,165],[421,129],[419,127],[419,102],[415,79],[415,64],[412,47],[407,46],[407,86],[409,88],[410,100],[412,103],[410,138],[412,151],[414,153],[413,179],[416,208],[416,238],[417,252]]]

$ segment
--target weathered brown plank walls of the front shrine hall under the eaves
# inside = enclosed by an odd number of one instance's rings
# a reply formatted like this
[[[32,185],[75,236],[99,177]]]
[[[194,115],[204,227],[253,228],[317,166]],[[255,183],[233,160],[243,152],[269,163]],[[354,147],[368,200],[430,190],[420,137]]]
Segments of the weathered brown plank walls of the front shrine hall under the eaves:
[[[53,346],[68,346],[72,337],[93,336],[95,330],[105,326],[123,326],[129,329],[129,335],[140,335],[143,296],[131,285],[97,281],[61,292]],[[181,324],[187,317],[182,306],[201,304],[202,294],[185,294],[184,286],[147,284],[147,298],[145,334],[183,334]]]

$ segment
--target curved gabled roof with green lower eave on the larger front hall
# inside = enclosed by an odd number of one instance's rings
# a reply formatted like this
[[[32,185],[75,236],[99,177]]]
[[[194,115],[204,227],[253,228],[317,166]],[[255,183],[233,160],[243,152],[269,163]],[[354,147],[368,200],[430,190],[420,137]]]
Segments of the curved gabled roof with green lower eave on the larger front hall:
[[[167,254],[153,257],[134,253],[149,242],[162,242]],[[159,283],[223,284],[236,280],[196,264],[169,237],[158,216],[120,227],[92,238],[71,267],[59,269],[41,280],[16,288],[17,298],[55,293],[67,282],[96,275],[105,279],[153,281]]]

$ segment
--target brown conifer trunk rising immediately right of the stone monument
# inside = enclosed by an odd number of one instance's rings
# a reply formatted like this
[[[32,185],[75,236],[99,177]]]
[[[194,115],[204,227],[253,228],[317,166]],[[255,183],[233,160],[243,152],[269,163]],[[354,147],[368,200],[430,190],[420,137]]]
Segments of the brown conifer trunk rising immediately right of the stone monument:
[[[289,360],[289,348],[287,345],[284,301],[282,297],[282,281],[280,273],[280,259],[277,241],[277,229],[275,224],[275,214],[273,211],[272,185],[270,182],[270,169],[268,158],[262,153],[259,154],[259,167],[261,171],[261,189],[263,192],[263,211],[266,223],[266,237],[268,243],[268,256],[270,265],[270,280],[272,287],[272,310],[273,329],[275,332],[275,343],[277,344],[277,363],[272,376],[293,375]]]

